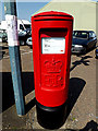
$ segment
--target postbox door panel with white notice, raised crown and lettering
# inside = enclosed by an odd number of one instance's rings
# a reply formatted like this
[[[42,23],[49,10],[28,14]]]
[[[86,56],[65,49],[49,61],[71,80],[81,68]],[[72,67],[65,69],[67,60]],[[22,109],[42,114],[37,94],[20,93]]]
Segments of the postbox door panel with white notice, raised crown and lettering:
[[[66,29],[40,32],[41,88],[58,90],[65,86]]]

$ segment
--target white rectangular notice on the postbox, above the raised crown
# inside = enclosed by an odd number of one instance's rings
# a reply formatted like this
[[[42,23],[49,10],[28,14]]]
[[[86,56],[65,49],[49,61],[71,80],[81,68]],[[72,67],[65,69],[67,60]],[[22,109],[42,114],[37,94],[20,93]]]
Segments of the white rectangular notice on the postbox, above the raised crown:
[[[41,38],[42,53],[64,53],[65,38],[64,37],[42,37]]]

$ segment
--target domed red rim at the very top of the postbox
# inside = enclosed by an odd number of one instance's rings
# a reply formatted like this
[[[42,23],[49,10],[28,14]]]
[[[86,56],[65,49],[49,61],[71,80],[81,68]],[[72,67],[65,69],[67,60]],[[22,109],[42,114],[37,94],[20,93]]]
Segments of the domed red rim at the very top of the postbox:
[[[40,17],[40,16],[63,16],[65,19],[73,20],[73,16],[71,14],[64,13],[64,12],[58,12],[58,11],[47,11],[47,12],[41,12],[38,14],[35,14],[33,17]]]

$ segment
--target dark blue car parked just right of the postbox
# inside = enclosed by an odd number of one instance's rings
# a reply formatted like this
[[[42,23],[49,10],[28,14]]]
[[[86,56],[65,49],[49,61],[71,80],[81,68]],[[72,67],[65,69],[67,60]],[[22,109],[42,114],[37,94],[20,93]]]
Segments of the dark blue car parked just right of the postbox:
[[[97,36],[94,31],[74,31],[72,41],[72,53],[86,53],[96,47]]]

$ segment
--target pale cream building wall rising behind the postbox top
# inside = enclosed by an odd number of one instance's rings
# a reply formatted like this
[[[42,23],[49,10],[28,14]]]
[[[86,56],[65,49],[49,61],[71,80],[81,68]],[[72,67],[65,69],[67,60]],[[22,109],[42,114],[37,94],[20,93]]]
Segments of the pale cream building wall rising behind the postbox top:
[[[62,11],[72,14],[74,17],[73,29],[95,31],[98,37],[98,2],[91,0],[51,0],[36,13],[45,11]]]

